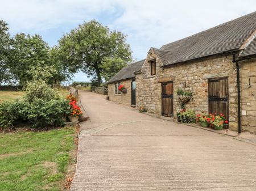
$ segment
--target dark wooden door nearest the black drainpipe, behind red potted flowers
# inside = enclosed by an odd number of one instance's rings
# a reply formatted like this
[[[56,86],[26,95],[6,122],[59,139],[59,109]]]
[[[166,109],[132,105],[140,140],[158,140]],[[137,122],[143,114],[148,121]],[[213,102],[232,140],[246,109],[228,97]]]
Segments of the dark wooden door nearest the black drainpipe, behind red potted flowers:
[[[228,78],[209,79],[209,113],[224,114],[229,117]]]

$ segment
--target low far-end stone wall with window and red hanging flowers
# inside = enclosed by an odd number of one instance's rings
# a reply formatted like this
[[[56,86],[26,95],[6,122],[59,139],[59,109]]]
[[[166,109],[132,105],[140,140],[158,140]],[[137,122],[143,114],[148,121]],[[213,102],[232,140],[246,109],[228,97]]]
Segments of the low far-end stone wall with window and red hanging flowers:
[[[124,104],[124,105],[131,105],[131,80],[123,80],[120,81],[125,88],[127,88],[127,93],[123,94],[115,94],[115,84],[110,83],[108,84],[108,94],[109,94],[109,100],[114,101],[116,103]]]

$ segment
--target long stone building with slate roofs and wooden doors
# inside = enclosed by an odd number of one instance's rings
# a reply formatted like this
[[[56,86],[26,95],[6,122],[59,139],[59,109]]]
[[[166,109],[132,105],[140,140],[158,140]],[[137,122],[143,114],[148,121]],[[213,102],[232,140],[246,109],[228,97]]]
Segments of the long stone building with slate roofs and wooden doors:
[[[108,88],[112,101],[170,117],[180,108],[176,91],[191,91],[186,108],[224,113],[230,129],[256,133],[256,12],[150,48],[145,60],[119,71]]]

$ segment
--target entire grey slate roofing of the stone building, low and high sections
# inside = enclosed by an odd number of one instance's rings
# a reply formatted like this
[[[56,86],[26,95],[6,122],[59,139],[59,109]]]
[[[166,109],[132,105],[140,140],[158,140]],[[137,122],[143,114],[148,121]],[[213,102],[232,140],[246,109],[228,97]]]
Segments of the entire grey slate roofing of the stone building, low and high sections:
[[[163,62],[163,66],[195,60],[225,52],[238,52],[243,43],[256,30],[256,11],[240,18],[220,24],[206,31],[163,45],[160,49],[151,48]],[[240,57],[256,55],[256,37],[241,53]],[[134,77],[145,60],[132,63],[120,70],[108,83]]]

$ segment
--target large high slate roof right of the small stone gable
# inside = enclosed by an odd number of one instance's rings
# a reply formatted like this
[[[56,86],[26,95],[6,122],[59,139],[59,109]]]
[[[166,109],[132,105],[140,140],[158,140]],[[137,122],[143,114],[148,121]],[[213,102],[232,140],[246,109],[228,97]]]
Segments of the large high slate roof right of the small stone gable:
[[[185,39],[163,45],[160,50],[167,51],[167,53],[160,55],[159,58],[163,65],[171,65],[238,50],[255,29],[256,11]]]

